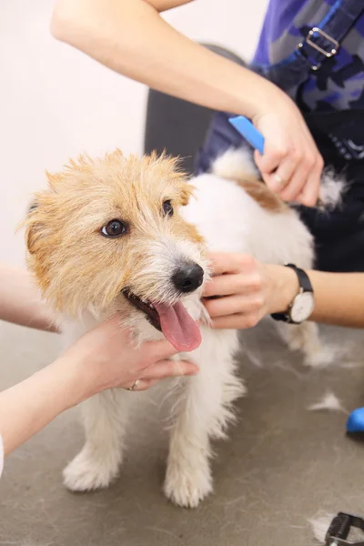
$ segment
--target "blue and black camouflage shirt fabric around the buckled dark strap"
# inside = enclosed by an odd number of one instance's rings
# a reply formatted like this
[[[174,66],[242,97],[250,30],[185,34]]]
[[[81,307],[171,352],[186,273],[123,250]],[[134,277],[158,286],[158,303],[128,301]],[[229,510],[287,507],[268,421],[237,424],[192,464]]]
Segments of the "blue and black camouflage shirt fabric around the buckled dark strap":
[[[357,0],[358,5],[364,2]],[[324,20],[341,2],[326,0],[270,0],[253,68],[263,73],[282,66],[297,50],[303,36]],[[300,106],[309,111],[334,111],[364,107],[364,13],[340,43],[337,55],[325,60],[317,73],[308,74],[299,89]],[[284,84],[284,82],[282,82]],[[289,91],[289,90],[288,90]],[[298,99],[298,89],[292,96]]]

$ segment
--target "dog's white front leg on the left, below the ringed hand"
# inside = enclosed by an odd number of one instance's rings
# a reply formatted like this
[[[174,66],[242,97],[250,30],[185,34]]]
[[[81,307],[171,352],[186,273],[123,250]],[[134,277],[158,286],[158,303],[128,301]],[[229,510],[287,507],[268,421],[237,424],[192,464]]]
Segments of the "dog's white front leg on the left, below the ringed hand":
[[[106,390],[82,404],[86,442],[64,470],[69,490],[107,487],[117,476],[127,419],[127,393]]]

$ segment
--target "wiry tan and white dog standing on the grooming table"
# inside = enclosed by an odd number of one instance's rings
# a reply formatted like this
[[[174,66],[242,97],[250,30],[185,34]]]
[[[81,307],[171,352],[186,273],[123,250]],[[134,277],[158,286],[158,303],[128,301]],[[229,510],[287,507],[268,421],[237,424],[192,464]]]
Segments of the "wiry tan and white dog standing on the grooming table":
[[[172,393],[164,484],[168,499],[196,507],[213,489],[211,440],[226,437],[233,402],[245,392],[234,360],[238,331],[210,329],[201,302],[207,250],[307,269],[313,238],[243,150],[228,151],[211,173],[189,181],[176,158],[124,157],[117,149],[79,157],[47,177],[25,221],[28,265],[59,313],[66,343],[118,311],[136,345],[166,337],[180,351],[176,359],[192,359],[200,369]],[[325,177],[321,198],[335,206],[342,183]],[[328,358],[313,323],[279,329],[311,364]],[[116,479],[134,396],[114,389],[82,404],[86,443],[64,470],[67,488],[105,488]]]

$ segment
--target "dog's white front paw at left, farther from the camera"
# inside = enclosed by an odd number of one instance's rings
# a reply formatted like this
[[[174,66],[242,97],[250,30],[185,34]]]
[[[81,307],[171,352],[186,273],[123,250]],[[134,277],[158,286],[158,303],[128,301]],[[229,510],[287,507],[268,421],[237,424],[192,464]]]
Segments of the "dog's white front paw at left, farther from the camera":
[[[118,466],[114,460],[97,459],[84,449],[66,466],[63,481],[71,491],[103,489],[115,480]]]

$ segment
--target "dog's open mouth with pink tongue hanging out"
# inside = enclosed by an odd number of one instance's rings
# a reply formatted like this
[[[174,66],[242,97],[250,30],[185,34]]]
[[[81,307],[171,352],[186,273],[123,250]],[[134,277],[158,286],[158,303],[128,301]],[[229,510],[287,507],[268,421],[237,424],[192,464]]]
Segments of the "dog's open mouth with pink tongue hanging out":
[[[152,303],[138,298],[129,290],[124,291],[123,294],[135,308],[146,315],[147,320],[156,329],[163,332],[165,338],[178,351],[197,349],[201,343],[201,332],[182,302],[178,301],[173,305]]]

